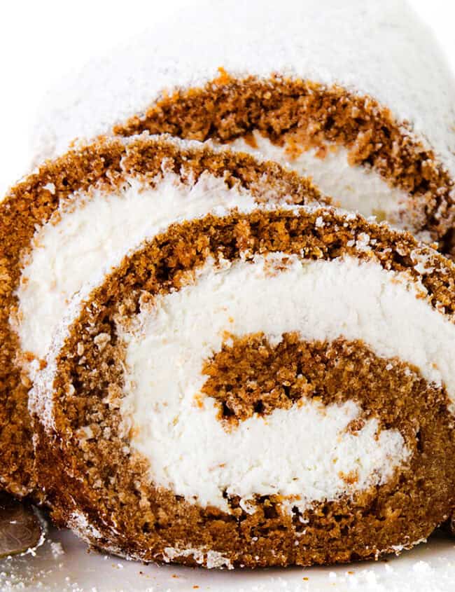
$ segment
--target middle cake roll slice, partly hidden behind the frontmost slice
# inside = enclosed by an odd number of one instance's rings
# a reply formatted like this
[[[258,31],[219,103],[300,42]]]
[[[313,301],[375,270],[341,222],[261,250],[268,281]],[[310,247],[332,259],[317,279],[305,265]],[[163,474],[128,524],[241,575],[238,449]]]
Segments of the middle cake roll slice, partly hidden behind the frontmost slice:
[[[328,202],[278,165],[166,138],[85,146],[15,186],[0,204],[1,486],[34,491],[27,392],[69,300],[93,274],[172,221],[312,200]]]

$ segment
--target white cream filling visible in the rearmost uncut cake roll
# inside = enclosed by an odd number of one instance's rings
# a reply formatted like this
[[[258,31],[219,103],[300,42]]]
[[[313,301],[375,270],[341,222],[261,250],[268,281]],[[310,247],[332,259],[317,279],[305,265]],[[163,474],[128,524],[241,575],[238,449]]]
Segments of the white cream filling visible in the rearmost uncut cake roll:
[[[381,216],[391,223],[400,223],[400,214],[405,209],[409,195],[387,183],[373,168],[351,166],[348,151],[344,146],[327,146],[324,158],[319,158],[317,149],[303,151],[290,158],[285,146],[275,146],[266,137],[254,132],[257,148],[239,138],[229,144],[230,149],[244,151],[286,165],[305,177],[335,202],[364,216]]]

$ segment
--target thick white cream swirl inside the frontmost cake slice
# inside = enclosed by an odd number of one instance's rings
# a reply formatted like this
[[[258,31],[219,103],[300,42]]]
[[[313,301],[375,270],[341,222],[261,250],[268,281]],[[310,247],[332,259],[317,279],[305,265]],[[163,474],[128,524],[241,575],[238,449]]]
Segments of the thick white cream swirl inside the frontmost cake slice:
[[[378,436],[374,419],[355,436],[344,432],[360,413],[353,401],[304,400],[226,432],[214,400],[205,397],[200,408],[195,399],[207,380],[204,360],[221,350],[226,331],[262,331],[272,343],[289,331],[302,340],[361,339],[381,357],[415,364],[455,399],[455,327],[416,297],[414,284],[371,261],[292,256],[279,270],[280,261],[276,254],[223,268],[209,262],[194,284],[155,298],[134,329],[120,327],[132,446],[148,458],[151,481],[202,505],[226,510],[227,490],[244,507],[254,495],[276,493],[304,509],[384,483],[409,455],[397,431]],[[356,483],[343,474],[356,474]]]

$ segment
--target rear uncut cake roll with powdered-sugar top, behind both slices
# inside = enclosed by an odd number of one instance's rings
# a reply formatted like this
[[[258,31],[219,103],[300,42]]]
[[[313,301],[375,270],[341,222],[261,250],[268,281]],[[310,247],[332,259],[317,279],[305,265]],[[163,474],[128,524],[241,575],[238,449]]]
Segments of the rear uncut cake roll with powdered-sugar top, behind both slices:
[[[454,76],[405,1],[192,4],[68,86],[36,153],[111,126],[230,144],[453,249]]]

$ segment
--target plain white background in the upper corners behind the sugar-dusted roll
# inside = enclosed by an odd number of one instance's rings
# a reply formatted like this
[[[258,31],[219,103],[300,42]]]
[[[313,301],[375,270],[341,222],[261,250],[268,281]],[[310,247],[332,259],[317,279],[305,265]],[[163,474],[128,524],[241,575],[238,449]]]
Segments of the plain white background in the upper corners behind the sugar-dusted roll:
[[[437,31],[455,71],[455,0],[410,1]],[[186,4],[195,2],[0,0],[0,193],[27,172],[30,129],[45,90],[116,40],[172,18]]]

